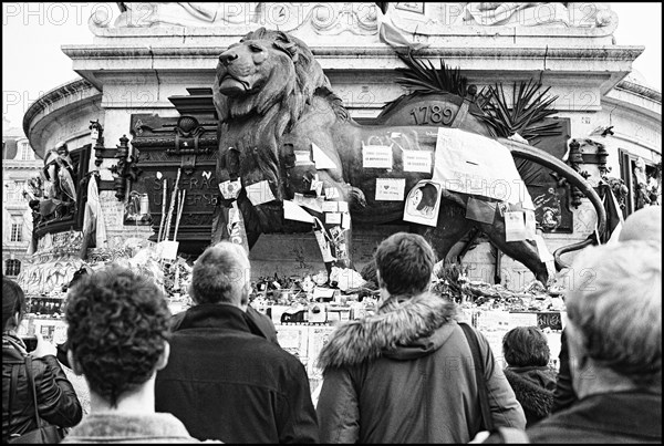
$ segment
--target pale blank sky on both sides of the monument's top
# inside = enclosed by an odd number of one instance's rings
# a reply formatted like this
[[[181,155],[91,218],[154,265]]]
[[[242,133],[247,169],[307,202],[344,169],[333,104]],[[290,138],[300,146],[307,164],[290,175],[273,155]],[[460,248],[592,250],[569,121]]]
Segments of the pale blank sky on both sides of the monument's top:
[[[616,44],[645,46],[633,69],[662,91],[662,3],[610,4],[619,15]],[[34,100],[77,77],[60,46],[92,43],[87,19],[96,10],[118,13],[114,2],[2,3],[3,122],[22,127]]]

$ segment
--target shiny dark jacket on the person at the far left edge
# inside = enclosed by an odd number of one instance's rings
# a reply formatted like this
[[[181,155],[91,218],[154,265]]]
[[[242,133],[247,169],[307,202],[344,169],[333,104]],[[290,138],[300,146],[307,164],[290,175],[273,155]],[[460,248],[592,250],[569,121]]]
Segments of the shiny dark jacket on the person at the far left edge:
[[[28,388],[25,354],[25,345],[19,338],[13,333],[2,334],[2,443],[10,434],[25,434],[38,427],[32,392]],[[11,388],[14,369],[18,369],[15,390]],[[33,357],[32,377],[43,421],[60,427],[71,427],[81,421],[81,403],[55,356]]]

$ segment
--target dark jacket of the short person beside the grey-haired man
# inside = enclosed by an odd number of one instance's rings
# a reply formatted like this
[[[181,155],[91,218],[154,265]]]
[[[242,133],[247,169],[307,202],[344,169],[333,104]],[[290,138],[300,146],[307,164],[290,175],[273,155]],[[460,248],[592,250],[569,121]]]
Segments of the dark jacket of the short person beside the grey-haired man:
[[[523,413],[526,426],[530,427],[551,413],[556,371],[547,366],[507,367],[505,377],[515,391]]]

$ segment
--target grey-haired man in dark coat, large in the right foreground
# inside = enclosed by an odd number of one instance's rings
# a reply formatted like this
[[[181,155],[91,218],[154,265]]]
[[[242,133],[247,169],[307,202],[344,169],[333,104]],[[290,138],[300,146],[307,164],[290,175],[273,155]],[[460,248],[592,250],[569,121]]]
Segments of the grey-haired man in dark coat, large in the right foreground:
[[[579,400],[527,429],[530,442],[662,443],[662,243],[588,248],[573,271],[566,330]]]

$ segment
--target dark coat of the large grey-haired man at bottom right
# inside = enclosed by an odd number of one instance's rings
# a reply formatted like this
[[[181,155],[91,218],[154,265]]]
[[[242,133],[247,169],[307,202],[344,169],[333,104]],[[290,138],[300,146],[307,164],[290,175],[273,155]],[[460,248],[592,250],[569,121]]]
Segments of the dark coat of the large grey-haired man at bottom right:
[[[578,400],[526,431],[531,443],[662,444],[662,394],[620,392]]]

